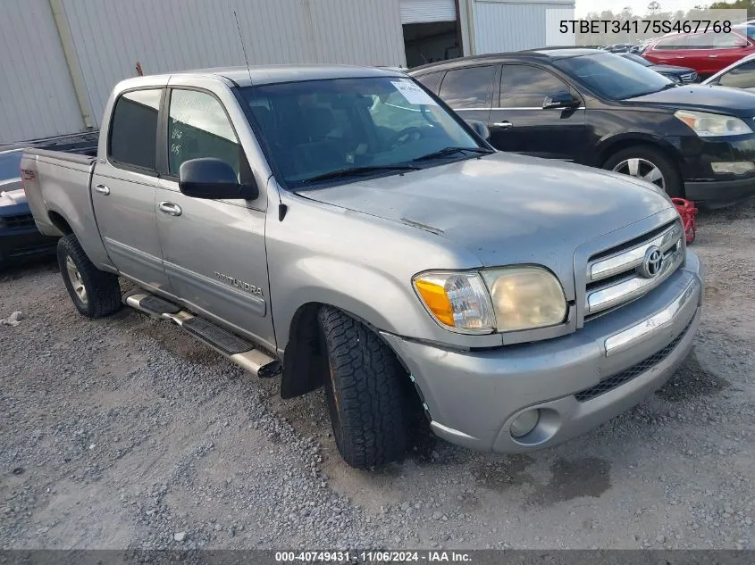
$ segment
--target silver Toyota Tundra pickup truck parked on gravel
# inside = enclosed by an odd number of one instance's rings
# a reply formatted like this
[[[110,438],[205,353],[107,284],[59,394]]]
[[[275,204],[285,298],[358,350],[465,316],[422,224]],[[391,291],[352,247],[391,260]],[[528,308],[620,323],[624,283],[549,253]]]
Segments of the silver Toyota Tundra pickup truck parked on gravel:
[[[172,321],[281,373],[284,398],[324,386],[358,468],[401,459],[413,406],[478,450],[583,434],[658,388],[700,322],[666,195],[495,152],[397,71],[128,79],[96,157],[32,149],[21,168],[79,312]]]

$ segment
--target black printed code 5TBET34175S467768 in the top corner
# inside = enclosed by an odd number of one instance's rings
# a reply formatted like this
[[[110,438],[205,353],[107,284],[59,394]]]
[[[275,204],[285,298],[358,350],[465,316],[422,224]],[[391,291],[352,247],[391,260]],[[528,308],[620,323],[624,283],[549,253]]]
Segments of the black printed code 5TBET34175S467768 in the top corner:
[[[729,33],[728,20],[561,20],[560,33]]]

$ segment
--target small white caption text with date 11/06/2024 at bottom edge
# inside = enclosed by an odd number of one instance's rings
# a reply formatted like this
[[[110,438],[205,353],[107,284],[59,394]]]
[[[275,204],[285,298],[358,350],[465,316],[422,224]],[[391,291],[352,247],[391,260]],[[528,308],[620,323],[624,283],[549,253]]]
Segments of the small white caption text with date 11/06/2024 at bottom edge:
[[[369,551],[369,552],[276,552],[280,563],[471,563],[472,557],[464,552],[447,551]]]

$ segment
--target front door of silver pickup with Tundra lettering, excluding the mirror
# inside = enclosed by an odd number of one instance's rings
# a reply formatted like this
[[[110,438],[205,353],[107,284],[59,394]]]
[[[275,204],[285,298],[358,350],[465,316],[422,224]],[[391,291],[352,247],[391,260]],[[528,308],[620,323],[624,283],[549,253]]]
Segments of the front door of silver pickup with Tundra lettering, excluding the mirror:
[[[264,246],[265,187],[258,185],[254,201],[192,198],[179,189],[180,165],[200,157],[221,159],[241,182],[253,182],[226,107],[237,104],[238,109],[238,103],[223,88],[217,87],[220,93],[180,85],[169,90],[161,139],[163,179],[156,201],[164,266],[174,294],[191,310],[274,348]]]

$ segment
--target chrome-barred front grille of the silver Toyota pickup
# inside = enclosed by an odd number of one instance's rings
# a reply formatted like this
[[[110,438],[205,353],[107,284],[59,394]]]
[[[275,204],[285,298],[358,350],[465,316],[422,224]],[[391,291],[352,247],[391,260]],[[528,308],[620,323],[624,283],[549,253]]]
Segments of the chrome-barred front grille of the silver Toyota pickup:
[[[645,254],[658,247],[662,260],[657,272],[642,274]],[[684,262],[684,230],[678,220],[642,237],[592,255],[587,263],[584,320],[629,303],[658,287]]]

